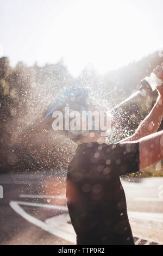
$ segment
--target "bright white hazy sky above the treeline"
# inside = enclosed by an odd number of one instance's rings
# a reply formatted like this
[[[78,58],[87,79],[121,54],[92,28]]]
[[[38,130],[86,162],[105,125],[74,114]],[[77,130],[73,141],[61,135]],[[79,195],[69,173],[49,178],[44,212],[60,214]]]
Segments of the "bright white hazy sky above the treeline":
[[[104,73],[163,47],[162,0],[0,0],[0,57]]]

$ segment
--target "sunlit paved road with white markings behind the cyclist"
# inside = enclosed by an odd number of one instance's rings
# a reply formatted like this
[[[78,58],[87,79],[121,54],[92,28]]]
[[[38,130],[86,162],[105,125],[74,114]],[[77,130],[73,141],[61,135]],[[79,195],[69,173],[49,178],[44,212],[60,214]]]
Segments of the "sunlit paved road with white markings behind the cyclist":
[[[0,245],[74,245],[65,174],[54,173],[0,175]],[[122,184],[136,245],[163,244],[163,178],[128,181]]]

